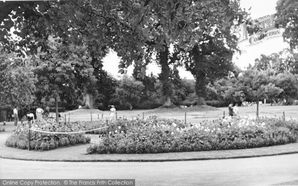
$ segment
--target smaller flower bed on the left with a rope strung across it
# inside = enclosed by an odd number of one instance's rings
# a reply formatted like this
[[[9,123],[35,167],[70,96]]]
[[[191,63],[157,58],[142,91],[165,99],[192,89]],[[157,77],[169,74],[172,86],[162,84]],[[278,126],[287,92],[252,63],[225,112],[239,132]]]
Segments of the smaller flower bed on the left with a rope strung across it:
[[[75,123],[56,124],[45,121],[31,125],[31,128],[51,132],[72,132],[81,131],[84,128]],[[84,133],[76,134],[50,134],[31,131],[30,149],[32,150],[50,150],[57,147],[73,145],[77,143],[87,143],[90,141]],[[28,148],[28,124],[18,125],[12,134],[6,139],[5,145],[8,147]]]

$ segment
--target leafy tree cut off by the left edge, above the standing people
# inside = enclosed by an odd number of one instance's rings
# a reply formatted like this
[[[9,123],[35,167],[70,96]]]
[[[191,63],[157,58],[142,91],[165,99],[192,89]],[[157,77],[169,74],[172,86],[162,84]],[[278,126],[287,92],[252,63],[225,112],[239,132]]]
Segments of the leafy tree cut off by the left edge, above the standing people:
[[[33,67],[13,54],[0,53],[0,107],[20,109],[35,99]]]

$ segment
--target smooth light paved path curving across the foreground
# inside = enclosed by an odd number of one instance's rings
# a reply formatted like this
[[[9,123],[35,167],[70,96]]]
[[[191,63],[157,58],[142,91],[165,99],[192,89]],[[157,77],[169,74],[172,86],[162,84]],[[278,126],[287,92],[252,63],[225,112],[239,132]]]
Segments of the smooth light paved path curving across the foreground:
[[[178,162],[37,162],[0,158],[1,179],[136,179],[137,186],[298,185],[298,154]]]

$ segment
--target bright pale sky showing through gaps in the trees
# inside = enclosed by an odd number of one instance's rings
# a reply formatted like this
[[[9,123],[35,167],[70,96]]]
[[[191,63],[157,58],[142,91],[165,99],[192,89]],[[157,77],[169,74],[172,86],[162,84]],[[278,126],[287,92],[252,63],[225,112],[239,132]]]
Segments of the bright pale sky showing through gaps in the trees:
[[[240,6],[249,10],[250,16],[253,19],[262,17],[268,14],[276,13],[276,2],[277,0],[241,0]],[[233,57],[233,62],[239,66],[241,69],[245,69],[249,63],[254,64],[254,60],[259,58],[261,54],[270,55],[275,52],[282,51],[284,48],[288,47],[287,43],[283,42],[282,37],[269,39],[261,42],[260,44],[253,46],[245,46],[244,44],[238,45],[240,53],[236,53]],[[111,52],[106,58],[103,59],[103,69],[108,71],[114,77],[120,77],[121,74],[118,73],[118,64],[120,58],[117,57],[116,53]],[[179,75],[181,78],[193,79],[193,75],[186,71],[183,67],[178,68]],[[131,75],[133,71],[133,65],[128,68],[128,75]],[[147,74],[153,73],[157,75],[160,73],[160,67],[156,63],[150,63],[148,65]]]

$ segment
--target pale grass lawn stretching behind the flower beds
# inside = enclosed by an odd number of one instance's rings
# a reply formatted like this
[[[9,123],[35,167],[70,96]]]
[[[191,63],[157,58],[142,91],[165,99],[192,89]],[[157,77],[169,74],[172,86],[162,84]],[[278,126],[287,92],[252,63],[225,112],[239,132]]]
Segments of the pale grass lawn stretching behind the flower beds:
[[[200,123],[204,120],[215,120],[217,118],[222,118],[228,115],[227,107],[224,108],[214,108],[209,106],[195,106],[189,107],[185,109],[174,108],[174,109],[151,109],[151,110],[133,110],[133,111],[117,111],[117,117],[122,118],[133,118],[133,117],[149,117],[152,115],[156,115],[163,118],[174,118],[177,120],[184,121],[186,112],[186,121],[187,123]],[[270,106],[270,104],[260,105],[259,106],[259,116],[266,116],[266,117],[281,117],[283,116],[283,112],[285,112],[285,116],[287,119],[293,118],[298,119],[298,106]],[[64,117],[65,114],[68,116],[70,113],[70,121],[90,121],[92,113],[92,120],[101,120],[107,119],[109,117],[109,111],[100,111],[96,109],[79,109],[74,110],[66,113],[61,113]],[[256,105],[249,106],[249,107],[239,107],[239,114],[240,116],[255,116],[256,115]],[[206,118],[202,119],[200,117],[215,117],[215,118]]]

